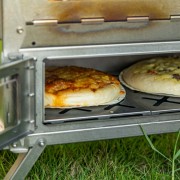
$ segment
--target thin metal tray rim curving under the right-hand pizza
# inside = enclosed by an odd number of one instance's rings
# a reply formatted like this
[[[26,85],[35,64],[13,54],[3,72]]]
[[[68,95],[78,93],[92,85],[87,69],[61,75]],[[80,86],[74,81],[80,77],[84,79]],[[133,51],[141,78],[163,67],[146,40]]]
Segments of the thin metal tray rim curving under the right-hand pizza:
[[[158,95],[158,96],[170,96],[170,97],[180,97],[180,96],[176,96],[173,94],[163,94],[163,93],[149,93],[149,92],[145,92],[145,91],[140,91],[139,89],[136,89],[134,87],[129,86],[123,79],[123,71],[120,72],[119,74],[119,81],[122,85],[124,85],[125,87],[133,90],[133,91],[138,91],[138,92],[142,92],[142,93],[146,93],[146,94],[152,94],[152,95]]]

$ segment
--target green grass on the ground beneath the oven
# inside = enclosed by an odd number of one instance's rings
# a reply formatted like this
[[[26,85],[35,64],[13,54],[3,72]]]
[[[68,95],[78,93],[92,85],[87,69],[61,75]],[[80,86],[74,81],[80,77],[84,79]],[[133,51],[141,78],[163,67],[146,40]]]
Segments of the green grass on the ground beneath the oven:
[[[172,159],[177,133],[152,135],[153,145]],[[180,143],[177,143],[177,149]],[[17,155],[0,152],[0,179]],[[180,167],[180,159],[176,161]],[[26,179],[171,179],[171,163],[151,149],[145,137],[48,146]],[[175,172],[175,179],[180,179]]]

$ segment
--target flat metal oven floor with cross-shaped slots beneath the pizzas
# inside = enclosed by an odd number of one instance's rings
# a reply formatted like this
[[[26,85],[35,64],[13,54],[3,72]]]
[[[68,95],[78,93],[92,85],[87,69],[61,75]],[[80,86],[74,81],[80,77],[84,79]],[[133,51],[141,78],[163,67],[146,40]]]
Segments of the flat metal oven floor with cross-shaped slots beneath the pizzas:
[[[129,89],[126,89],[126,92],[126,98],[114,105],[71,109],[47,108],[44,123],[144,116],[180,111],[180,98],[150,95]]]

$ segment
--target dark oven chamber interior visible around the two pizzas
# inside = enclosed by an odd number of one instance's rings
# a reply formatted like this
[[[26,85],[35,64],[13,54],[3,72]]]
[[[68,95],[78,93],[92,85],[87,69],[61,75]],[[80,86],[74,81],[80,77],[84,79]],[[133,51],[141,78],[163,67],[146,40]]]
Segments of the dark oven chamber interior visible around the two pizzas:
[[[79,66],[94,68],[119,78],[120,72],[131,64],[157,55],[126,57],[94,57],[79,59],[45,59],[45,68],[49,66]],[[165,55],[172,56],[172,55]],[[112,105],[100,105],[75,108],[45,108],[45,124],[57,124],[77,121],[102,120],[122,117],[142,117],[180,112],[180,98],[152,95],[126,90],[126,97]]]

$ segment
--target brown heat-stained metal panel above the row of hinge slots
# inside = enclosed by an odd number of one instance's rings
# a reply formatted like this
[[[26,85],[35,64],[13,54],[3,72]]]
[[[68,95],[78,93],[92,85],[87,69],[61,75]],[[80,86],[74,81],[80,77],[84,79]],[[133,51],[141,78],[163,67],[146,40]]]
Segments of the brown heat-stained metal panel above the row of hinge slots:
[[[20,0],[26,20],[58,19],[77,22],[86,18],[105,21],[126,20],[127,17],[148,16],[149,19],[169,19],[180,14],[178,0]]]

